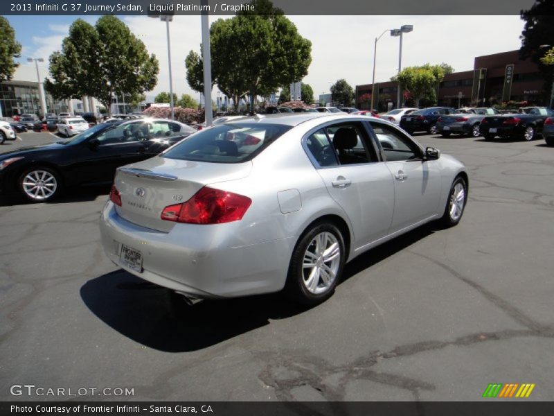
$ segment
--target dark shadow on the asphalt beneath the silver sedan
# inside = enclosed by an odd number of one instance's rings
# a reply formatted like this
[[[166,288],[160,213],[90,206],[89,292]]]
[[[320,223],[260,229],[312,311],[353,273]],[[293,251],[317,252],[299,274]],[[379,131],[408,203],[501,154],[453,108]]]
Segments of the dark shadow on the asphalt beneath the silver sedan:
[[[345,266],[343,281],[433,234],[436,229],[437,225],[424,225],[362,254]],[[287,300],[281,293],[205,300],[189,306],[181,295],[122,269],[87,281],[80,295],[90,311],[109,327],[137,343],[164,352],[192,352],[211,347],[264,327],[271,320],[290,318],[310,309]]]

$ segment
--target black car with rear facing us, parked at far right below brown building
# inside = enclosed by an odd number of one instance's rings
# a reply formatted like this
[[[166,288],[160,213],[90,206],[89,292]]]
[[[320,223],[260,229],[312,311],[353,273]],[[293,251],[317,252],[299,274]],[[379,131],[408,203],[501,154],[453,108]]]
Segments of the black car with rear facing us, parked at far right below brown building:
[[[554,112],[546,107],[525,107],[526,114],[502,114],[488,116],[481,121],[481,133],[485,139],[494,137],[533,140],[542,132],[544,121]]]

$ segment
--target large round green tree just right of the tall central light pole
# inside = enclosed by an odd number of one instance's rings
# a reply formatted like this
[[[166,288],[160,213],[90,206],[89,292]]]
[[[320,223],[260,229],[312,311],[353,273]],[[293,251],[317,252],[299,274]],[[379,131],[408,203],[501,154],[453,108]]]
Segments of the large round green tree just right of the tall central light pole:
[[[219,19],[210,28],[212,79],[233,99],[235,109],[244,96],[249,96],[252,110],[256,96],[301,80],[312,61],[312,43],[298,34],[282,10],[268,0],[251,4],[256,12]],[[202,58],[191,51],[186,67],[190,87],[202,90]]]

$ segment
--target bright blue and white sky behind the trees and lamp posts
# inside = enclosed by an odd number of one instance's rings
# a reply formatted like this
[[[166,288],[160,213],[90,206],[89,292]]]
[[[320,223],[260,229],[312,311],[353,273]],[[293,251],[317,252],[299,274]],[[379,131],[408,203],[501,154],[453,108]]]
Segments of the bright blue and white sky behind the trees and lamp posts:
[[[160,64],[158,85],[147,98],[169,91],[168,50],[165,24],[146,16],[118,16],[141,39]],[[21,64],[26,58],[44,58],[61,49],[62,40],[75,16],[8,16],[16,38],[23,45]],[[82,19],[94,24],[98,16]],[[220,16],[211,16],[213,22]],[[456,71],[473,69],[474,57],[519,49],[524,26],[519,16],[289,16],[298,32],[312,41],[312,64],[303,79],[318,96],[328,92],[332,83],[345,78],[352,87],[371,83],[375,37],[390,28],[413,24],[413,32],[404,35],[402,67],[427,62],[446,62]],[[199,52],[201,40],[199,16],[175,16],[170,23],[173,91],[199,94],[186,83],[184,59],[190,50]],[[397,73],[398,38],[384,35],[377,46],[376,82],[389,80]],[[213,97],[217,88],[213,89]]]

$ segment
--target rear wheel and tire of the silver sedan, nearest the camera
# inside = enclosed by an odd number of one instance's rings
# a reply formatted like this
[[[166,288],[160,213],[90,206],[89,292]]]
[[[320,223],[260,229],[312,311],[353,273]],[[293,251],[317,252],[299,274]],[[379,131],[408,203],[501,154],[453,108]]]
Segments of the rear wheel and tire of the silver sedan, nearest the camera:
[[[316,305],[334,293],[344,261],[344,239],[332,223],[316,223],[296,243],[285,292],[297,302]]]

